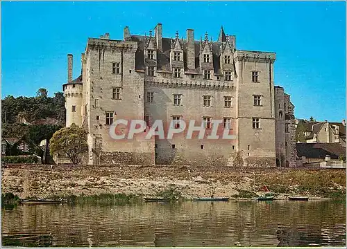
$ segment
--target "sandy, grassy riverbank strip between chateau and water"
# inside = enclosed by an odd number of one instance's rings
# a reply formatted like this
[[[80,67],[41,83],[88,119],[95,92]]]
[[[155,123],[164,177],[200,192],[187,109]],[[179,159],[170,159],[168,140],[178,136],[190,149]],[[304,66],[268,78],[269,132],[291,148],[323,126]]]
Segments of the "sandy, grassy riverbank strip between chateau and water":
[[[344,169],[188,166],[7,165],[2,192],[21,199],[119,195],[180,199],[215,196],[251,199],[262,185],[276,194],[346,200]],[[76,198],[76,197],[74,197]]]

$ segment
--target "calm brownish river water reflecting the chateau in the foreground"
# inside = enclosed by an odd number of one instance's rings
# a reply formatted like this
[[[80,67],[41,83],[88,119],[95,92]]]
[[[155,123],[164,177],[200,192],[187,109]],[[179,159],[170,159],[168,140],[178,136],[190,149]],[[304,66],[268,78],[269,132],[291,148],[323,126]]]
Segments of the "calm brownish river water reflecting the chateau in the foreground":
[[[3,246],[346,246],[346,202],[19,205]]]

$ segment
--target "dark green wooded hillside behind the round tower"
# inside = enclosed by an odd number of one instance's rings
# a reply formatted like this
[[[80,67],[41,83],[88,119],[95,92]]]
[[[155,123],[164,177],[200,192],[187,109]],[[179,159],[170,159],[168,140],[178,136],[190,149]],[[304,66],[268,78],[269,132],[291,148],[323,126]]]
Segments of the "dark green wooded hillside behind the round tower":
[[[1,100],[1,118],[3,122],[13,124],[21,118],[32,122],[43,118],[56,118],[60,124],[65,122],[65,99],[61,92],[48,97],[46,89],[39,89],[36,97],[18,98],[12,95]]]

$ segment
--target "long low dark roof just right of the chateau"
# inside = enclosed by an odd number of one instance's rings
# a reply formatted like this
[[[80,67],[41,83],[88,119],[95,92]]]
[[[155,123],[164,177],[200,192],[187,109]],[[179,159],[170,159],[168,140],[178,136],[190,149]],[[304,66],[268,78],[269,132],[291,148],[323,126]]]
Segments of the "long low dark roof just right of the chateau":
[[[339,155],[346,155],[346,149],[339,142],[307,142],[297,143],[296,151],[298,156],[306,158],[325,158],[329,155],[332,159],[338,159]]]

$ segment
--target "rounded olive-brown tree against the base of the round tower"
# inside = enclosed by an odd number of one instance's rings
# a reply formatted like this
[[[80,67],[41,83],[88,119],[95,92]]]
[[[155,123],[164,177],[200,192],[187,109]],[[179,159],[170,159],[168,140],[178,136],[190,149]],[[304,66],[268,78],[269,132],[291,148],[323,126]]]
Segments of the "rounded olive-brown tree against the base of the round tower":
[[[83,154],[88,151],[87,131],[76,124],[56,131],[49,140],[49,151],[51,156],[66,154],[72,163],[81,163]]]

